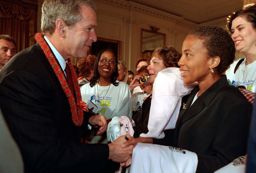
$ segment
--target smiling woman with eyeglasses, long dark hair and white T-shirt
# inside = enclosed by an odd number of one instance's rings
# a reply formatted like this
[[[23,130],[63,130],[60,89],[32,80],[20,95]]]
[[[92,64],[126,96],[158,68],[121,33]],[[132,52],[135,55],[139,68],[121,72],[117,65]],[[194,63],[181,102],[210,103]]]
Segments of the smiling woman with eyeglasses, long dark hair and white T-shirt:
[[[81,87],[82,100],[102,105],[99,114],[105,115],[108,122],[114,116],[131,118],[131,92],[127,84],[116,81],[117,70],[117,58],[113,51],[103,49],[96,58],[93,78]],[[107,136],[105,133],[94,136],[89,143],[107,143]]]

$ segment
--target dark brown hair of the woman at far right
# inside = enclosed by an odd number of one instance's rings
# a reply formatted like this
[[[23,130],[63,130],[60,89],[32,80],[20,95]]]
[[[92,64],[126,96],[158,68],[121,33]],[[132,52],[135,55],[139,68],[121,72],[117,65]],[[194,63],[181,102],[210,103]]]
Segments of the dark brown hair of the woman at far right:
[[[228,30],[231,32],[232,22],[236,17],[245,17],[247,22],[250,22],[254,29],[256,29],[256,5],[247,7],[246,9],[239,9],[230,15],[227,20]]]

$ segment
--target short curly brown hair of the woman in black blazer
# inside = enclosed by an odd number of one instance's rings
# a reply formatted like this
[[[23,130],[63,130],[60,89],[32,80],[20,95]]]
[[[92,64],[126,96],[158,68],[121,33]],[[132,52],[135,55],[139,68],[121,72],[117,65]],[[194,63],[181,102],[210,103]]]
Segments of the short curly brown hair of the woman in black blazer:
[[[207,49],[209,57],[219,56],[221,62],[218,65],[218,75],[221,75],[235,58],[235,43],[230,34],[217,26],[198,26],[193,28],[189,35],[195,35],[204,40],[203,45]]]

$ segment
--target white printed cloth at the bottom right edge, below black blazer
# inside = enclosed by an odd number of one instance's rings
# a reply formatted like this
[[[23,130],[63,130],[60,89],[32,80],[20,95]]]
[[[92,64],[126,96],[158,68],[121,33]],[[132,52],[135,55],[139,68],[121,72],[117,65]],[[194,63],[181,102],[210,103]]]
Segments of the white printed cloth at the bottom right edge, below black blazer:
[[[244,156],[236,158],[230,164],[216,170],[214,173],[245,173],[246,164],[244,164]]]

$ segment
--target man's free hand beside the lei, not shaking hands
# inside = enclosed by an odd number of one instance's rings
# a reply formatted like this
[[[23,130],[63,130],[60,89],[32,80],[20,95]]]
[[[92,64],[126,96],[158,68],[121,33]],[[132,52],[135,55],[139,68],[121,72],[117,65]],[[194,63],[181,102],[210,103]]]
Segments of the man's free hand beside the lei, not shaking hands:
[[[99,131],[96,133],[96,136],[101,135],[107,130],[108,124],[105,115],[93,115],[89,118],[88,123],[92,127],[99,127]]]

